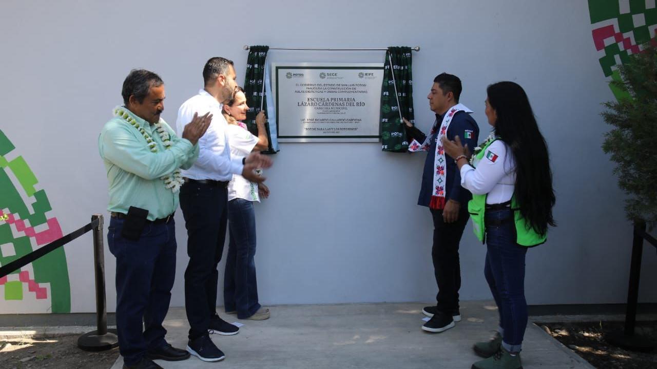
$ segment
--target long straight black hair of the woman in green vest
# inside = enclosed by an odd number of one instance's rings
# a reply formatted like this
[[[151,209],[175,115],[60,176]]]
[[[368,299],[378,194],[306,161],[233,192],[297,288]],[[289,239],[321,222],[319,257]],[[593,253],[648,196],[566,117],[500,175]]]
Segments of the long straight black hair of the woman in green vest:
[[[516,161],[514,195],[520,214],[538,234],[555,227],[555,191],[547,144],[538,129],[532,106],[518,83],[503,81],[486,89],[488,104],[497,113],[495,135],[509,145]]]

